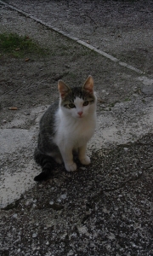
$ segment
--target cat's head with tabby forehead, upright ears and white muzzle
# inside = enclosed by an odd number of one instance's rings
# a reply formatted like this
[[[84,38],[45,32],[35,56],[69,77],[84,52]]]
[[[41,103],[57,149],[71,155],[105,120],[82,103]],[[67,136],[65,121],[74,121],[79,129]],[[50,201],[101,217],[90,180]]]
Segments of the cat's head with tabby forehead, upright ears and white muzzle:
[[[59,106],[66,115],[82,119],[95,112],[96,96],[92,76],[88,76],[82,87],[70,88],[59,80],[58,89]]]

